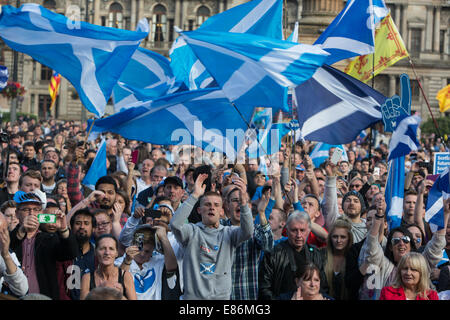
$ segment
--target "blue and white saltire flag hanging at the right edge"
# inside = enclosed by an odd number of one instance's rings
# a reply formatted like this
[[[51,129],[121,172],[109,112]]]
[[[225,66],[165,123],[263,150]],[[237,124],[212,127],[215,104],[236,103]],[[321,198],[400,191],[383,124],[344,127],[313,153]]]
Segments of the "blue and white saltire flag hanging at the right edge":
[[[450,198],[449,168],[445,169],[428,193],[425,221],[432,232],[444,228],[444,200]]]

